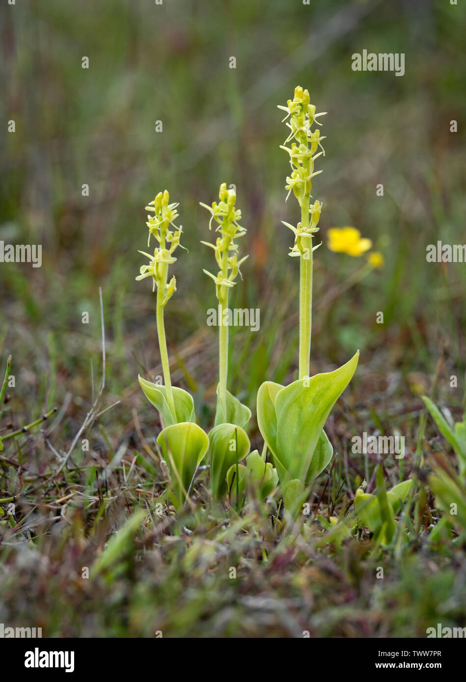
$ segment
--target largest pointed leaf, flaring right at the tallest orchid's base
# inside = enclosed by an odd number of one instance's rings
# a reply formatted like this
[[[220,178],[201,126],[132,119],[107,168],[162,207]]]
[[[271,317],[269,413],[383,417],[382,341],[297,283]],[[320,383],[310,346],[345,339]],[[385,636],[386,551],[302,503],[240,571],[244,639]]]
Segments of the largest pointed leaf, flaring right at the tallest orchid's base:
[[[358,357],[359,351],[338,370],[316,374],[308,380],[293,381],[276,394],[276,467],[279,477],[283,475],[281,469],[284,468],[290,478],[304,481],[325,420],[349,384],[358,365]],[[320,473],[318,469],[318,466],[313,467],[311,473],[317,475]]]

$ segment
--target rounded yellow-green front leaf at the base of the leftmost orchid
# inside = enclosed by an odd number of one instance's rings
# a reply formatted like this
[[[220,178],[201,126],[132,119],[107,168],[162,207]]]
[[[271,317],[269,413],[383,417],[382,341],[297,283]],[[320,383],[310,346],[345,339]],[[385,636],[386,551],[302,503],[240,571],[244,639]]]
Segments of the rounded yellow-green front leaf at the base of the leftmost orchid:
[[[209,439],[193,421],[164,428],[157,439],[171,473],[177,509],[183,507],[192,477],[209,449]]]

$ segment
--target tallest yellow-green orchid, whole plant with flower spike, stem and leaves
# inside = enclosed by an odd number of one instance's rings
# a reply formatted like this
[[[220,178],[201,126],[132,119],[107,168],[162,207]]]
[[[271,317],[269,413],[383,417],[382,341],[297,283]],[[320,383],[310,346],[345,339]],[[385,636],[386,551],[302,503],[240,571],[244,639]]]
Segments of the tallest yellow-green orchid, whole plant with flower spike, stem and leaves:
[[[334,372],[309,376],[310,340],[312,328],[312,238],[319,230],[317,224],[322,204],[310,203],[312,178],[321,173],[315,161],[325,154],[323,136],[316,113],[310,104],[309,93],[295,88],[293,100],[279,106],[286,112],[290,130],[285,140],[291,174],[287,177],[288,196],[293,192],[300,205],[301,220],[296,226],[282,221],[294,234],[295,241],[289,255],[300,258],[300,353],[299,379],[282,386],[265,381],[257,394],[259,429],[278,472],[285,507],[296,510],[306,497],[306,486],[325,469],[333,456],[332,445],[323,430],[332,406],[347,387],[358,365],[359,351],[347,364]],[[286,145],[291,143],[290,147]],[[321,151],[317,151],[318,149]],[[287,196],[287,198],[288,198]]]

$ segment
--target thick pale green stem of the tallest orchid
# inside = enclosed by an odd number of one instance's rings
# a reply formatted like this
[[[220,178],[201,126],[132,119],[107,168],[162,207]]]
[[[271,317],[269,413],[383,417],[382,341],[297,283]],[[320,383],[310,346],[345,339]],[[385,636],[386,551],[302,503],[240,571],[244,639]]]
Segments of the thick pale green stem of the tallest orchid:
[[[301,202],[301,225],[309,226],[309,194]],[[304,253],[300,256],[300,379],[309,376],[310,333],[312,327],[312,237],[302,235]]]

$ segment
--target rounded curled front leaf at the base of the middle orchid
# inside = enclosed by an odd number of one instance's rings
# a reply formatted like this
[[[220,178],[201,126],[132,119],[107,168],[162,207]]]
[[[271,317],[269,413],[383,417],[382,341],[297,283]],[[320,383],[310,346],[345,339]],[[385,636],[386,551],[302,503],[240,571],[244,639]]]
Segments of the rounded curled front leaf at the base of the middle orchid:
[[[227,492],[227,471],[236,466],[236,437],[238,462],[249,452],[250,443],[246,432],[235,424],[218,424],[209,432],[210,487],[214,499]]]

